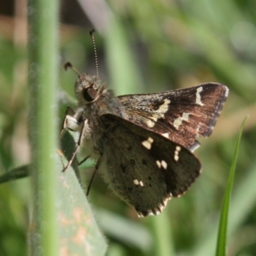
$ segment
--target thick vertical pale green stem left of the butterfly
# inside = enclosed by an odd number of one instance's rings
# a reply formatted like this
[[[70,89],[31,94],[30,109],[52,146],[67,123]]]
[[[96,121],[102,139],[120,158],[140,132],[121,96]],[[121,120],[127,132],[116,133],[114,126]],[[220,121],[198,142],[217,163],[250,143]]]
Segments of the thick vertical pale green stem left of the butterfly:
[[[58,1],[30,0],[29,90],[35,232],[32,255],[58,255],[56,225],[56,87]]]

